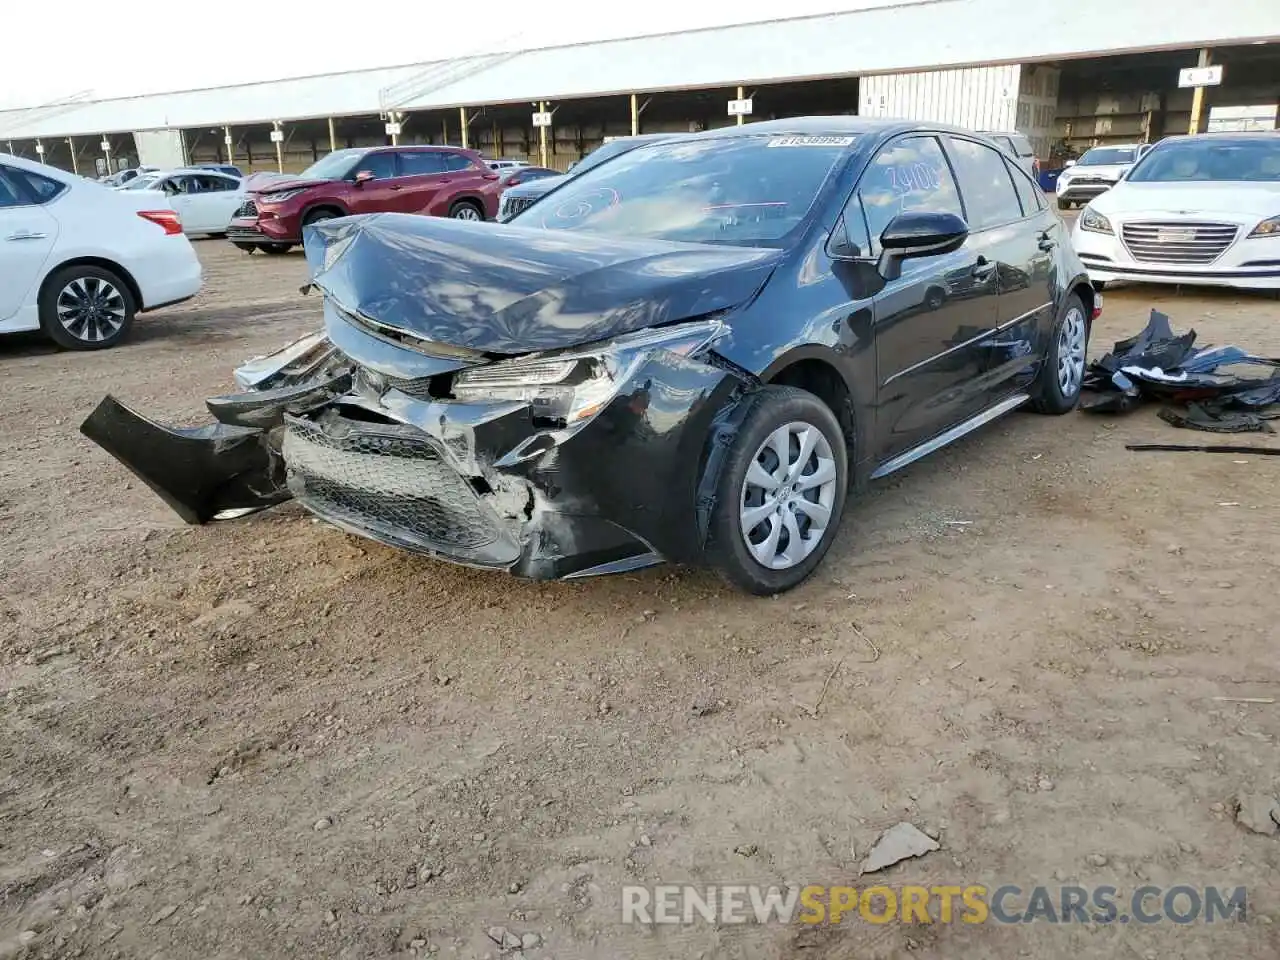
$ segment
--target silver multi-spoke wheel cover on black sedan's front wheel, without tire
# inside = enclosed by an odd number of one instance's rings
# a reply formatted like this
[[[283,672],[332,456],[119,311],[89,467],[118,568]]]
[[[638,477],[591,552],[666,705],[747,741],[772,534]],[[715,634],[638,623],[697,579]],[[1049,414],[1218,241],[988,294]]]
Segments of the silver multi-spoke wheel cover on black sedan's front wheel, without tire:
[[[822,543],[836,504],[836,458],[813,424],[783,424],[756,448],[742,479],[739,526],[768,570],[803,563]]]

